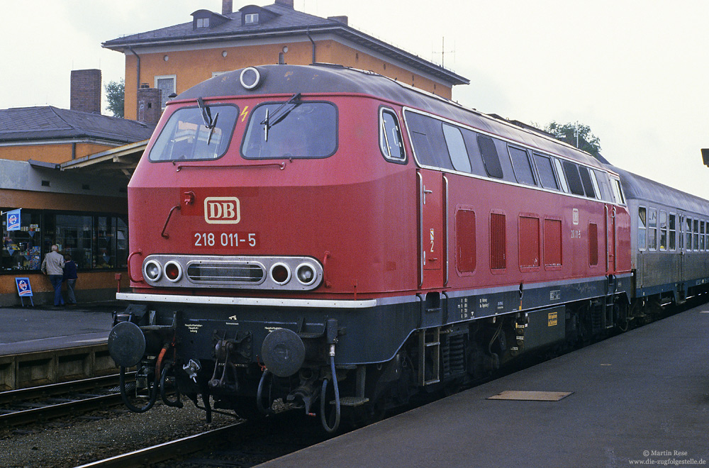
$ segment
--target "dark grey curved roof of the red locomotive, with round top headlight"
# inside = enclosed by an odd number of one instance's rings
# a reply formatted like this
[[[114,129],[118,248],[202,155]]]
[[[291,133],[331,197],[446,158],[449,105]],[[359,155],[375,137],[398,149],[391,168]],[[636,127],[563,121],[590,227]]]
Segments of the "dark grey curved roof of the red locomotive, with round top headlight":
[[[554,155],[569,157],[595,167],[604,167],[587,152],[541,132],[521,128],[501,118],[464,108],[454,101],[415,89],[374,72],[330,64],[260,65],[255,68],[262,76],[261,84],[255,89],[242,87],[240,82],[242,69],[238,69],[220,74],[187,89],[177,96],[177,100],[258,94],[366,94],[403,106],[418,108]]]

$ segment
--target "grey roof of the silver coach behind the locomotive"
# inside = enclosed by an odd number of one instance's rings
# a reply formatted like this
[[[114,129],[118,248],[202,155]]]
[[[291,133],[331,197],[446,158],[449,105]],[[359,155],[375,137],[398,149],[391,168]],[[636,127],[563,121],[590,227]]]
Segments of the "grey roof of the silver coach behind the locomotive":
[[[620,175],[625,197],[629,200],[654,202],[693,213],[709,213],[709,201],[705,199],[673,189],[671,186],[660,184],[619,167],[611,166],[610,168]]]

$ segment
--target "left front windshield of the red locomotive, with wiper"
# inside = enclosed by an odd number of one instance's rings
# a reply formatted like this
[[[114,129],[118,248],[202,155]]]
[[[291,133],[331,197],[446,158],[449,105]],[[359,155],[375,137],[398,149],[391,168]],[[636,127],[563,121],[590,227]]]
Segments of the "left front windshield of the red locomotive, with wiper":
[[[238,115],[235,106],[178,109],[150,150],[150,160],[216,160],[229,145]]]

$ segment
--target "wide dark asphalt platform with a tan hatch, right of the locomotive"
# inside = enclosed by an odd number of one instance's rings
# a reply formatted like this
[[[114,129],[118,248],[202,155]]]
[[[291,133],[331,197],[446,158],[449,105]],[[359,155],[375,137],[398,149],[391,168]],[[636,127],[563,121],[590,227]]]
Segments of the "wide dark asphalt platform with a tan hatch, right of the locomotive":
[[[709,466],[707,311],[679,313],[259,467]],[[506,391],[571,394],[490,399]]]

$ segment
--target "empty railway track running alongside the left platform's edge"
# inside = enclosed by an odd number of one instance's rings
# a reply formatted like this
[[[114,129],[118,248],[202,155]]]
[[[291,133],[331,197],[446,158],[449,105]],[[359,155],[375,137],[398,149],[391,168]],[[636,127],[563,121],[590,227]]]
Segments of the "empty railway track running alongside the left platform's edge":
[[[118,375],[3,391],[0,427],[27,425],[120,403]]]

